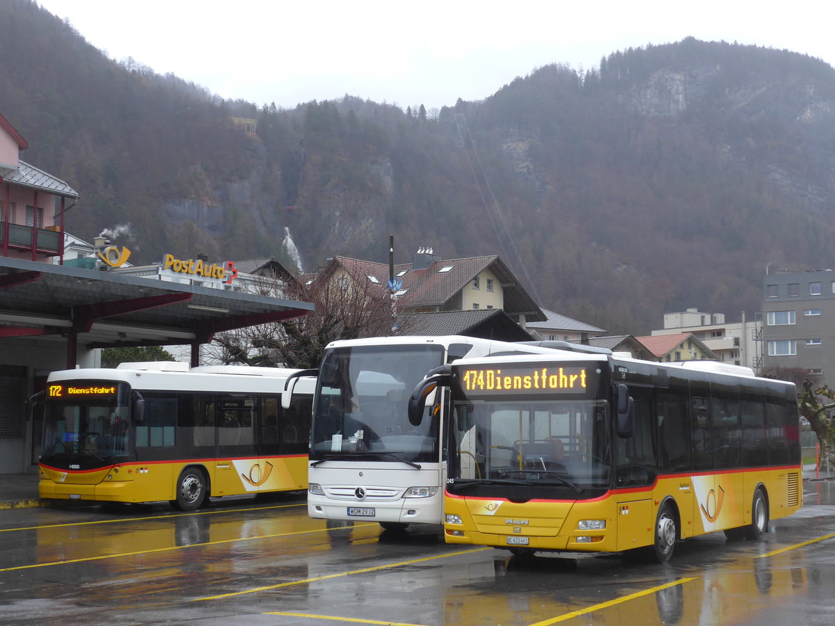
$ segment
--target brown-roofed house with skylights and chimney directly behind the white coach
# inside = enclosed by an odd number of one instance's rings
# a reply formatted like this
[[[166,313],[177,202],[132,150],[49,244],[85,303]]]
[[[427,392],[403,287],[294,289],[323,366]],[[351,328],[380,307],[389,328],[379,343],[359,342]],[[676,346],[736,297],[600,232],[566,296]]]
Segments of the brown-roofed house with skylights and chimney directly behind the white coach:
[[[399,313],[462,310],[503,310],[519,326],[547,318],[496,255],[442,259],[431,250],[418,250],[412,263],[394,265],[393,289],[389,266],[374,261],[335,256],[316,275],[302,280],[331,280],[342,289],[359,288],[397,296]]]

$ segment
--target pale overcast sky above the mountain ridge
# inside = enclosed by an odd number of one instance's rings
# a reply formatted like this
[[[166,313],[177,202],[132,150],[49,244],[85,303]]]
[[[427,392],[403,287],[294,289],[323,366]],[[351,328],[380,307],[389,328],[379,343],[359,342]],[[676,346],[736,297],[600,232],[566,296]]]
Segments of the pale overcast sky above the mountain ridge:
[[[0,0],[2,2],[3,0]],[[110,58],[283,108],[348,93],[403,109],[480,100],[549,63],[687,36],[835,63],[822,0],[39,0]]]

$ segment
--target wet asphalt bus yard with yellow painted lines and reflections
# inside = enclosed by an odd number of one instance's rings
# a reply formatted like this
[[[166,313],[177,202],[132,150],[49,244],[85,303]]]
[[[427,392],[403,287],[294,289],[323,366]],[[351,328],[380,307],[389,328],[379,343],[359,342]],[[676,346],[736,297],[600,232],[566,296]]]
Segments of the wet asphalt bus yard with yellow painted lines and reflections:
[[[303,493],[0,511],[3,624],[831,624],[835,482],[762,542],[713,533],[673,562],[511,558],[440,528],[311,520]]]

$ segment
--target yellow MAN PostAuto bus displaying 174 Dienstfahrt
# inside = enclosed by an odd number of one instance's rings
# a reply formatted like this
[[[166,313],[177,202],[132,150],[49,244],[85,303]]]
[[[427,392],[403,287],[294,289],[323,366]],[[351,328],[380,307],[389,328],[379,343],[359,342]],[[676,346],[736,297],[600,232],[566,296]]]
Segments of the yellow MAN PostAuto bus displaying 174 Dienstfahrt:
[[[586,346],[461,359],[415,388],[412,423],[438,386],[448,543],[665,563],[680,539],[760,538],[802,505],[795,387],[746,367]]]

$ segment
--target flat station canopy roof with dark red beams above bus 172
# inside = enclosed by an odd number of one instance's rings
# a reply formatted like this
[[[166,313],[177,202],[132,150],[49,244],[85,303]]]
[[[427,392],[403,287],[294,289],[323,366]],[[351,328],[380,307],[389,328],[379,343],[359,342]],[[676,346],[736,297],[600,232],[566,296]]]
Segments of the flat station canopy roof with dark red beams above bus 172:
[[[306,315],[308,302],[0,257],[0,341],[78,347],[208,343],[215,332]]]

